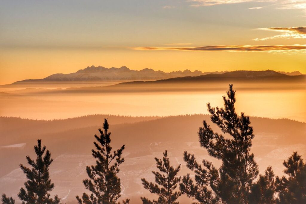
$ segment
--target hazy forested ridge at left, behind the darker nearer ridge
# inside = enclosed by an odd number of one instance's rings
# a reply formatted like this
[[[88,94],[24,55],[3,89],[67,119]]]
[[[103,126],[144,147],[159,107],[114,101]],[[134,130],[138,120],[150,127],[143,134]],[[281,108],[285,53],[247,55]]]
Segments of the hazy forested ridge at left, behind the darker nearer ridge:
[[[104,118],[109,118],[113,125],[124,123],[136,123],[158,119],[160,117],[132,117],[119,115],[88,115],[82,117],[57,119],[57,120],[32,120],[20,117],[0,117],[0,132],[2,135],[1,145],[12,143],[13,135],[28,138],[29,136],[38,136],[39,134],[63,132],[69,129],[85,128],[99,126]],[[21,139],[22,141],[22,139]]]

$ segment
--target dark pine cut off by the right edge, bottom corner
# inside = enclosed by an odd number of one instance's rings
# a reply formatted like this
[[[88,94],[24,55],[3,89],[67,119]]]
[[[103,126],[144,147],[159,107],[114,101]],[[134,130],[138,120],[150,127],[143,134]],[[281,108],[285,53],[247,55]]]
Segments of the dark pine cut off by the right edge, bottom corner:
[[[297,152],[283,162],[284,173],[288,176],[276,176],[277,202],[279,204],[306,203],[306,163]]]

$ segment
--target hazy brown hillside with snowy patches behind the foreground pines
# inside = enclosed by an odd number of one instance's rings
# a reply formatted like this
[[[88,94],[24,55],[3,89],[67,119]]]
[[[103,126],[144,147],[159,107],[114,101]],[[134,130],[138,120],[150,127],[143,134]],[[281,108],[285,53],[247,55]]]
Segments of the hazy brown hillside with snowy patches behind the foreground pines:
[[[54,161],[50,166],[50,177],[55,184],[51,195],[58,195],[63,202],[75,202],[75,195],[84,192],[81,181],[86,176],[86,165],[95,163],[91,157],[93,134],[102,127],[104,118],[110,122],[112,146],[117,149],[125,144],[119,177],[122,184],[122,198],[130,198],[132,203],[140,203],[140,197],[155,198],[141,184],[141,178],[152,181],[151,171],[155,170],[154,157],[161,158],[168,150],[172,165],[181,164],[178,176],[190,173],[183,160],[183,152],[188,150],[196,158],[210,158],[200,147],[197,132],[206,120],[214,130],[218,127],[210,122],[209,115],[181,115],[171,117],[124,117],[93,115],[65,120],[39,121],[14,117],[1,117],[0,144],[1,163],[0,191],[8,196],[15,195],[25,177],[18,167],[25,163],[25,155],[34,156],[33,145],[37,138],[43,140],[52,153]],[[86,122],[87,121],[87,122]],[[282,162],[293,151],[303,157],[306,154],[306,124],[288,119],[268,119],[250,117],[255,137],[252,153],[264,174],[272,166],[276,175],[283,175]],[[219,132],[219,131],[218,131]],[[219,132],[221,133],[221,132]],[[9,155],[5,156],[5,155]],[[211,159],[218,167],[220,161]],[[178,199],[190,202],[186,196]]]

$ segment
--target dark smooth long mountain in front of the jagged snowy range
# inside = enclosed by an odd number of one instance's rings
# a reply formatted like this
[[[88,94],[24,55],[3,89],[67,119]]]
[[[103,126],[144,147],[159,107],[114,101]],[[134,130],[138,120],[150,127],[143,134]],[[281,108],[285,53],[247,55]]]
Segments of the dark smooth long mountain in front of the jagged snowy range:
[[[233,71],[223,74],[176,77],[155,81],[130,81],[109,86],[69,87],[65,89],[26,88],[11,93],[57,94],[57,93],[122,93],[122,92],[169,92],[169,91],[208,91],[223,90],[229,83],[235,83],[237,89],[305,89],[306,75],[289,76],[272,70],[266,71]],[[271,85],[265,86],[265,83]],[[165,86],[167,84],[167,86]],[[200,85],[202,84],[202,85]],[[215,84],[203,86],[203,84]],[[248,86],[246,86],[248,84]],[[262,86],[258,86],[262,84]],[[293,85],[294,84],[294,85]],[[223,86],[224,85],[224,86]],[[0,95],[1,96],[1,95]]]

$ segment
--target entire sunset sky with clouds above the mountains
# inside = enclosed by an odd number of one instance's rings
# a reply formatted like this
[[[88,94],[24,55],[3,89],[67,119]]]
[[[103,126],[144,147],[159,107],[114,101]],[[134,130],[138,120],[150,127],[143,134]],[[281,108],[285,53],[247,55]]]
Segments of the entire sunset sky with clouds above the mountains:
[[[91,65],[306,73],[306,0],[0,2],[0,84]]]

